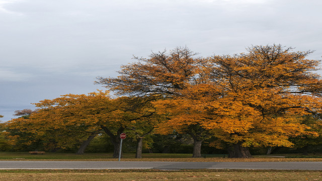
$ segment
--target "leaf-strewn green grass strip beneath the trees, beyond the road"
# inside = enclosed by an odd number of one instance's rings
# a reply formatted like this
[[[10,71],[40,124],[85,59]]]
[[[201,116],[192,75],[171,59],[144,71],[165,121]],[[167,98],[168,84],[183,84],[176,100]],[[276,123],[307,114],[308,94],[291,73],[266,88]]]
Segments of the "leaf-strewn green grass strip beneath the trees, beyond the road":
[[[112,153],[85,153],[77,155],[74,153],[45,153],[30,154],[28,152],[0,152],[0,160],[86,160],[86,161],[118,161],[113,158]],[[135,154],[125,153],[122,161],[322,161],[322,158],[281,158],[268,157],[267,155],[256,155],[254,158],[223,158],[223,156],[209,158],[192,158],[192,154],[164,154],[145,153],[142,158],[135,158]],[[276,156],[276,155],[273,155]],[[288,156],[288,155],[278,155]],[[317,155],[318,156],[318,155]]]

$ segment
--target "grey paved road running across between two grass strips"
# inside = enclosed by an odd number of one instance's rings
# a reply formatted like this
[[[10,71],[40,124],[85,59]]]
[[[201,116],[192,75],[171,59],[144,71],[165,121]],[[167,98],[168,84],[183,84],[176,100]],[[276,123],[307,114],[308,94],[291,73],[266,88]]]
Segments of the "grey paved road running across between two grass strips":
[[[0,169],[301,169],[322,162],[0,161]]]

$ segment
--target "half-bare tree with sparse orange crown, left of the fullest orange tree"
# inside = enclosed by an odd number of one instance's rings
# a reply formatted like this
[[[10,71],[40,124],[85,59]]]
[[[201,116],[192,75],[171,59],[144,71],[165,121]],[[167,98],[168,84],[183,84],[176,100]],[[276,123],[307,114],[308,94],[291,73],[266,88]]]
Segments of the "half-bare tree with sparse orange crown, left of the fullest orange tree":
[[[184,96],[182,90],[202,83],[203,59],[195,58],[195,55],[186,47],[178,47],[170,52],[151,53],[149,58],[134,57],[137,62],[121,66],[117,78],[98,77],[97,83],[119,95],[146,97],[151,101],[180,98]],[[202,127],[198,123],[196,126]],[[195,143],[199,144],[201,140],[197,140],[192,129],[186,129],[189,130],[196,139]],[[200,157],[199,153],[194,157]]]

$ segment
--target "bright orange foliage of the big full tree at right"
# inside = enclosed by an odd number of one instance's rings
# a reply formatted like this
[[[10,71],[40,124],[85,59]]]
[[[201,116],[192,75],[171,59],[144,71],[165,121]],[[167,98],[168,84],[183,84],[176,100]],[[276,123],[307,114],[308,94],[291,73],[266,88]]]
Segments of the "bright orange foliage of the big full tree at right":
[[[290,50],[256,46],[246,54],[204,60],[195,74],[207,75],[186,83],[177,97],[153,103],[169,118],[158,131],[200,125],[216,130],[214,136],[225,142],[246,147],[291,147],[290,137],[317,136],[302,120],[321,112],[322,84],[311,72],[319,61],[305,59],[309,52]]]

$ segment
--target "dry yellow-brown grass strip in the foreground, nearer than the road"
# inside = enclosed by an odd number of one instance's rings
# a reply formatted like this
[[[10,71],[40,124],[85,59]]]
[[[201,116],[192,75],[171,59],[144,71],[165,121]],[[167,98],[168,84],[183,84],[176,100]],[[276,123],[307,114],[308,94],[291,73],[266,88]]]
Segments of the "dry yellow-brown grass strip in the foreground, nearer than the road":
[[[292,170],[0,170],[0,180],[321,180]]]

